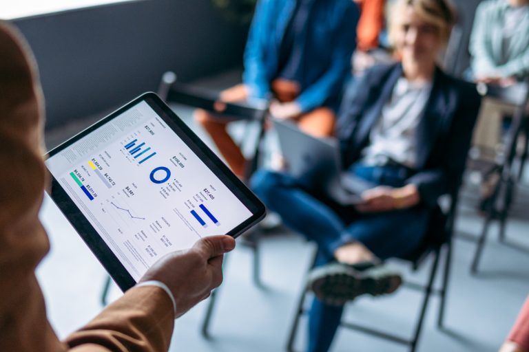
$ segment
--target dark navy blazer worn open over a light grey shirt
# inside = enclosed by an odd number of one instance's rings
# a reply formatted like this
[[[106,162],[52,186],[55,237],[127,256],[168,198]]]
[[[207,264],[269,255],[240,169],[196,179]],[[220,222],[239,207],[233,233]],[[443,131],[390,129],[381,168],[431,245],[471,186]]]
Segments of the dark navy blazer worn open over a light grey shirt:
[[[346,93],[338,118],[337,136],[345,167],[360,159],[384,104],[402,76],[402,65],[376,66]],[[435,206],[461,182],[481,98],[470,83],[435,70],[433,87],[417,129],[417,165],[406,181],[419,188],[423,203]]]

